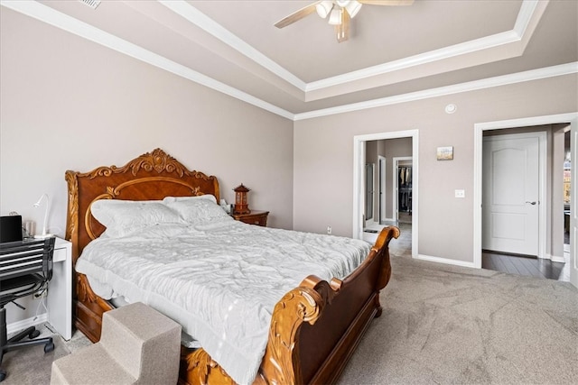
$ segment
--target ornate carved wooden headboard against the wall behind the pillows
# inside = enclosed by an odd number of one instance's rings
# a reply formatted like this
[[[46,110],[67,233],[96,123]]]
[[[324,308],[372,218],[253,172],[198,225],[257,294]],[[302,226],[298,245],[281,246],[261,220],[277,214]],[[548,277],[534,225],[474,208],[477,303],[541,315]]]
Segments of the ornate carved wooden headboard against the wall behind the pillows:
[[[69,207],[66,239],[76,262],[82,249],[105,230],[90,214],[98,199],[154,200],[212,194],[219,202],[219,181],[200,171],[187,170],[161,149],[147,152],[125,166],[103,166],[80,173],[66,171]]]

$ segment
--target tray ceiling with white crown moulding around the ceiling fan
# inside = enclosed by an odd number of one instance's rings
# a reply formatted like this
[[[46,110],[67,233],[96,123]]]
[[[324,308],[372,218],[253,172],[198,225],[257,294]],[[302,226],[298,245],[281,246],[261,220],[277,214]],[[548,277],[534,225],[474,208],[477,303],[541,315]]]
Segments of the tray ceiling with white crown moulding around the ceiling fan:
[[[512,81],[520,73],[531,78],[578,69],[575,1],[363,5],[351,19],[350,39],[341,43],[315,13],[275,28],[311,3],[1,4],[290,119],[432,90],[458,92],[460,85]]]

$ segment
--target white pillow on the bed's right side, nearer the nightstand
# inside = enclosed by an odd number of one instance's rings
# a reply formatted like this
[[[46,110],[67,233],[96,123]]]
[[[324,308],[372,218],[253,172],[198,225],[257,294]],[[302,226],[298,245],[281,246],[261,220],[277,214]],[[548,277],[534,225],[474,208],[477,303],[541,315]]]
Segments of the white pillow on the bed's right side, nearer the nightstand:
[[[163,203],[179,213],[182,221],[191,225],[232,219],[221,206],[217,205],[217,198],[212,195],[165,197]]]

